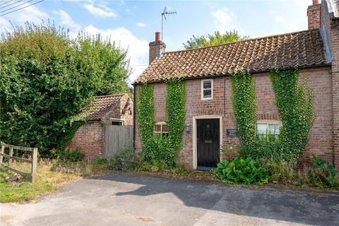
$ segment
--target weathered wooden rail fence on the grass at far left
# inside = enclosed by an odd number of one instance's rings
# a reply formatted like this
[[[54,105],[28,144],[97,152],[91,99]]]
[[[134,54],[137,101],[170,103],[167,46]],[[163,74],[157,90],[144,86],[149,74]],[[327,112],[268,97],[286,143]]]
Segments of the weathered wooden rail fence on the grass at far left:
[[[9,148],[9,154],[5,154],[5,148]],[[13,156],[13,150],[25,150],[30,151],[32,153],[32,159],[26,159],[23,157],[16,157]],[[4,163],[4,157],[8,158],[7,165]],[[11,167],[11,163],[13,163],[13,160],[17,160],[20,162],[28,162],[32,164],[32,171],[31,172],[22,172],[18,169],[14,169]],[[16,172],[18,174],[21,174],[23,176],[28,176],[32,180],[32,182],[35,182],[37,179],[37,148],[27,148],[27,147],[20,147],[16,145],[10,145],[6,143],[1,142],[1,153],[0,153],[0,165],[6,169],[9,169],[13,172]]]

